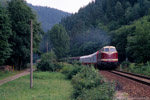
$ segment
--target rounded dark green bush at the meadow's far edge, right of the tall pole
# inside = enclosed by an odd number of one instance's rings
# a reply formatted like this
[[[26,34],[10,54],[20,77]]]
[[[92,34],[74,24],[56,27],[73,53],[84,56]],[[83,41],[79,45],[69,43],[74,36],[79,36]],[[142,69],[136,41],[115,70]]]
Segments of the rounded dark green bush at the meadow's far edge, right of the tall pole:
[[[37,65],[37,69],[41,71],[55,71],[56,55],[53,51],[45,53],[41,57],[41,61]]]

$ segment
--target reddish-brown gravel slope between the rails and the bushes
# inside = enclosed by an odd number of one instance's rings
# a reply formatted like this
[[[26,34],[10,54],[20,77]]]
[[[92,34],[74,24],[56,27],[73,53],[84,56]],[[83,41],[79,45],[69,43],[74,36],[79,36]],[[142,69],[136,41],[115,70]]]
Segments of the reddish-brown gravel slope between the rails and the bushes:
[[[150,100],[150,86],[118,76],[108,71],[100,71],[108,81],[115,81],[116,90],[126,92],[132,100]]]

